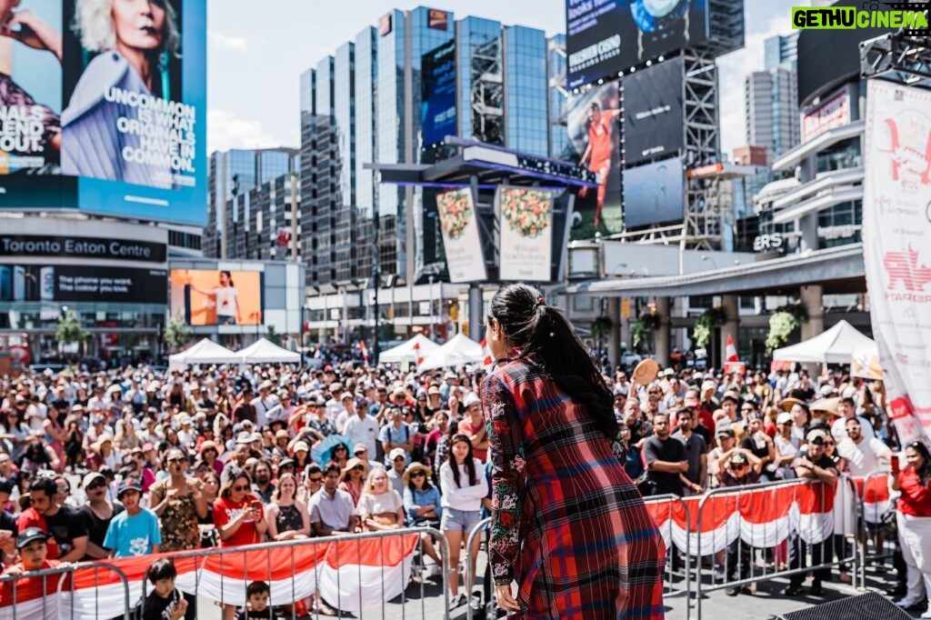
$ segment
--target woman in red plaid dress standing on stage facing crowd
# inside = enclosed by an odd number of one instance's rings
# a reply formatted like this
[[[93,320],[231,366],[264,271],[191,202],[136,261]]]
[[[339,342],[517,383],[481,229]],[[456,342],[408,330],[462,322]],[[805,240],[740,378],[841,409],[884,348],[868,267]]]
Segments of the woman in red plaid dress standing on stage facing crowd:
[[[600,371],[533,287],[499,290],[487,324],[498,604],[517,618],[663,618],[666,548],[613,451],[618,425]]]

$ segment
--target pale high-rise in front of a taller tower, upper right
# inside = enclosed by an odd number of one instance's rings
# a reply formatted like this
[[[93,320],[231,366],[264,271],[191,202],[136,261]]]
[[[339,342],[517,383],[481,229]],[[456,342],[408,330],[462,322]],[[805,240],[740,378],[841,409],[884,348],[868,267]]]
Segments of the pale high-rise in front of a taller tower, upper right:
[[[766,148],[770,159],[801,142],[798,79],[789,69],[749,74],[744,83],[747,143]]]

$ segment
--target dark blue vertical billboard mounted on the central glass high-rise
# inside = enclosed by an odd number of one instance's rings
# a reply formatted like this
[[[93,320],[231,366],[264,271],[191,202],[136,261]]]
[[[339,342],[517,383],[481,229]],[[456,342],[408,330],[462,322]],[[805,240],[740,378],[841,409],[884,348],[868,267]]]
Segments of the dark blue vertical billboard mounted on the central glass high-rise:
[[[421,60],[424,144],[456,135],[456,42],[432,49]]]

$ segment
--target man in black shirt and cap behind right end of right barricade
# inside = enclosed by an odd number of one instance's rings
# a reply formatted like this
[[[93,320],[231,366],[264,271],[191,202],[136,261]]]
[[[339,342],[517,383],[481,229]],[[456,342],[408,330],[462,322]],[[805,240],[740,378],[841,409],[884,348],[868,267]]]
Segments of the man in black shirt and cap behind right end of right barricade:
[[[792,462],[795,469],[795,475],[799,478],[808,478],[813,482],[820,482],[824,487],[834,487],[837,484],[837,467],[834,461],[824,452],[824,442],[828,438],[828,433],[821,428],[808,431],[805,436],[808,445],[808,454],[801,456]],[[816,486],[820,486],[817,485]],[[829,489],[815,489],[818,493],[829,492]],[[823,497],[823,495],[822,495]],[[812,564],[817,566],[822,559],[828,559],[829,556],[823,542],[814,545],[803,545],[797,540],[798,534],[789,535],[789,568],[792,570],[805,568],[806,549],[810,549],[812,555]],[[828,539],[830,541],[830,538]],[[830,551],[829,551],[830,552]],[[821,582],[830,579],[830,569],[818,569],[813,571],[811,595],[815,597],[822,596],[824,590]],[[797,596],[802,592],[802,584],[805,580],[805,573],[793,574],[789,580],[789,587],[784,594],[789,597]]]

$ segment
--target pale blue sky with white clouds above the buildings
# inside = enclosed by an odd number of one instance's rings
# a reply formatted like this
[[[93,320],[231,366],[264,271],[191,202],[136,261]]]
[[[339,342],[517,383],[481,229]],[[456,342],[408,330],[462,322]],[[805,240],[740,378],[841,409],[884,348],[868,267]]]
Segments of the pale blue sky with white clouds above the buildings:
[[[208,148],[298,146],[298,76],[389,9],[429,7],[557,34],[563,0],[210,0]],[[722,58],[722,147],[744,138],[744,76],[762,68],[762,40],[788,34],[789,8],[806,0],[745,0],[747,46]]]

